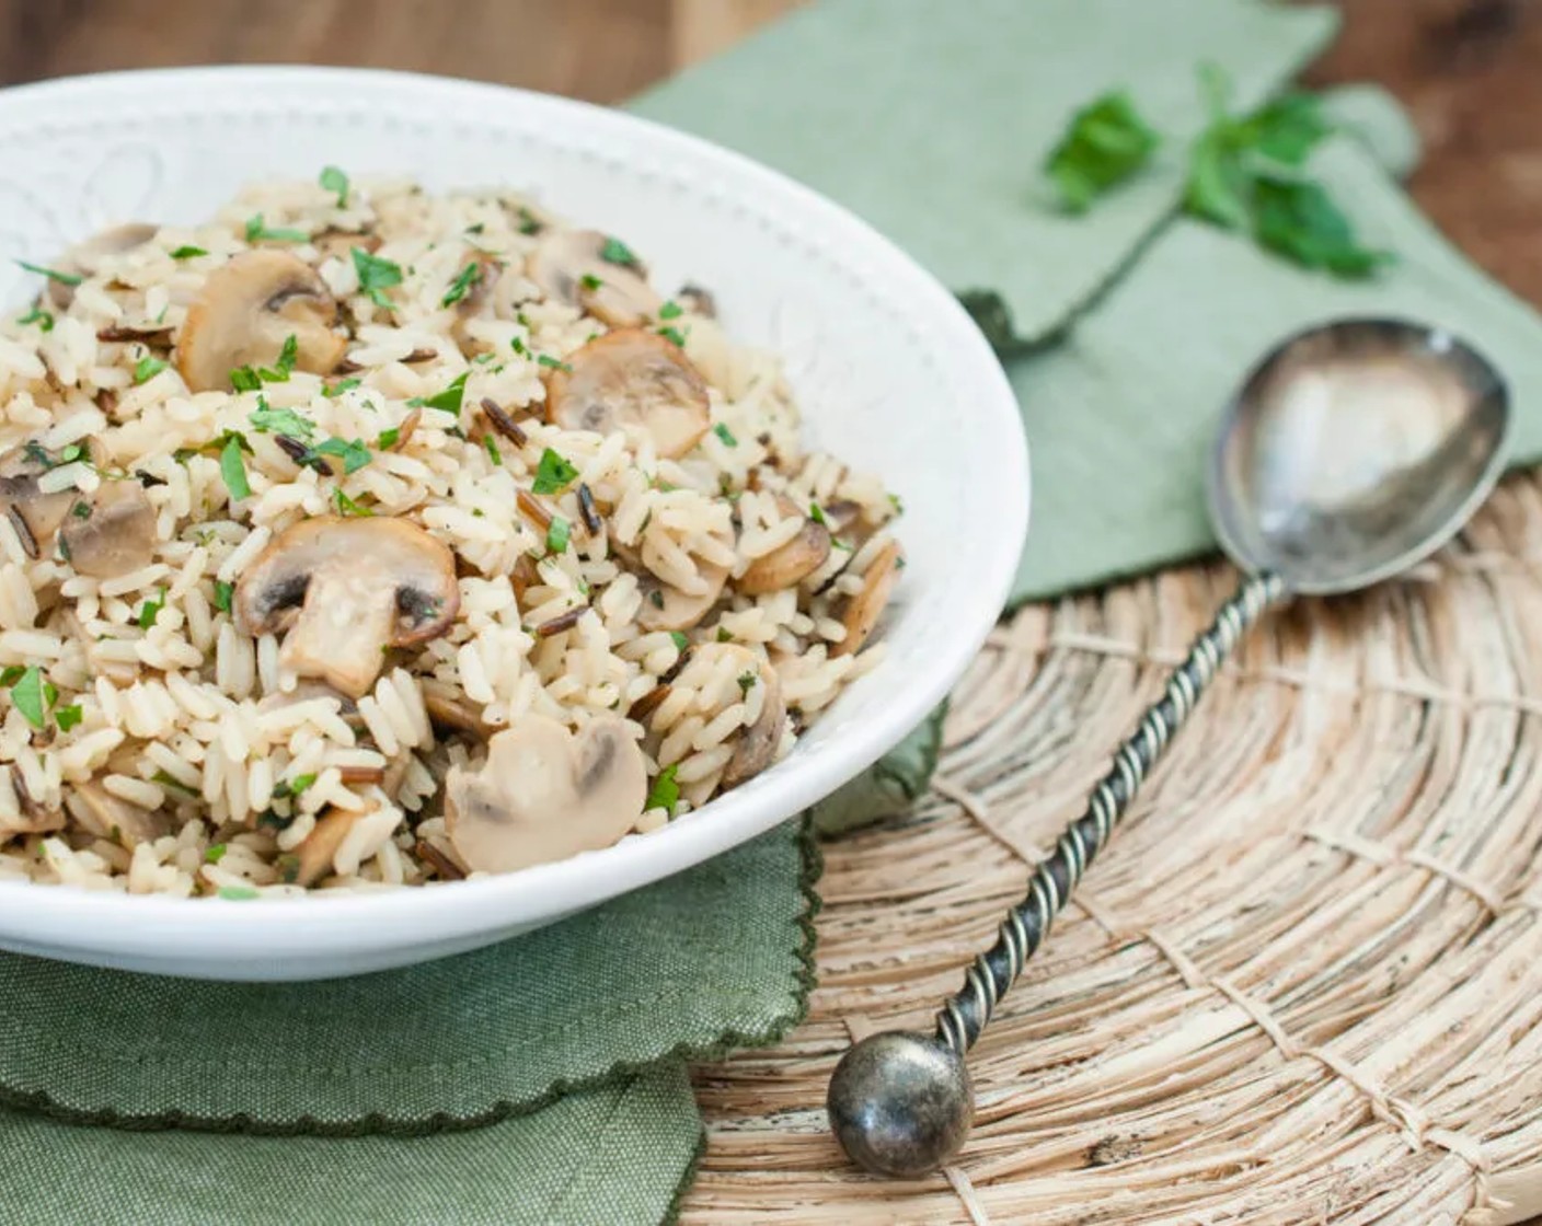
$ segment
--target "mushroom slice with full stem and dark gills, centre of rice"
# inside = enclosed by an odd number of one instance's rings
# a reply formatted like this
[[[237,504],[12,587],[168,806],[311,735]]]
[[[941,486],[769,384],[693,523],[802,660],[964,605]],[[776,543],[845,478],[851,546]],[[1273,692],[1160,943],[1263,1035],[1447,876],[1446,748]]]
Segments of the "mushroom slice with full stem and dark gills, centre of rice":
[[[455,554],[407,520],[321,515],[279,534],[236,583],[236,623],[288,635],[279,660],[348,697],[387,648],[423,643],[460,611]]]

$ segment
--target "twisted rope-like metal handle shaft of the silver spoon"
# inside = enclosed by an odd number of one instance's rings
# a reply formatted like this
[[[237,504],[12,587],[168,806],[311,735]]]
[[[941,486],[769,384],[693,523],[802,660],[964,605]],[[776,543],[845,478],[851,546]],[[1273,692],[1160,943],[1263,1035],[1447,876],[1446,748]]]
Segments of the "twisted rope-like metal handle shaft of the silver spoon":
[[[1141,780],[1194,711],[1221,660],[1263,612],[1284,595],[1284,583],[1278,575],[1264,572],[1243,580],[1237,595],[1221,606],[1210,628],[1195,640],[1189,657],[1167,679],[1161,699],[1146,711],[1135,736],[1113,756],[1113,768],[1092,790],[1087,811],[1066,827],[1055,851],[1029,882],[1027,898],[1007,911],[996,944],[975,959],[964,976],[964,987],[938,1013],[938,1039],[958,1055],[962,1056],[975,1046],[996,1002],[1007,995],[1007,989],[1022,973],[1022,964],[1049,935],[1050,924],[1070,891],[1107,845]]]

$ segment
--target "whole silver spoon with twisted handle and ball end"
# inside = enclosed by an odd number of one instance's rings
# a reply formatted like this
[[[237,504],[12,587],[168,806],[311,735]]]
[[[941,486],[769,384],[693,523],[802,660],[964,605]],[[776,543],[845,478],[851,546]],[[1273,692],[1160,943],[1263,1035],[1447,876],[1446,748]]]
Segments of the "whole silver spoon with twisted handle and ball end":
[[[921,1175],[964,1144],[975,1117],[964,1055],[1107,845],[1141,780],[1221,660],[1274,605],[1354,592],[1448,541],[1503,469],[1510,396],[1448,332],[1343,319],[1292,336],[1246,378],[1210,458],[1210,521],[1244,578],[1113,756],[1027,898],[938,1013],[934,1035],[888,1030],[830,1079],[830,1124],[857,1164]]]

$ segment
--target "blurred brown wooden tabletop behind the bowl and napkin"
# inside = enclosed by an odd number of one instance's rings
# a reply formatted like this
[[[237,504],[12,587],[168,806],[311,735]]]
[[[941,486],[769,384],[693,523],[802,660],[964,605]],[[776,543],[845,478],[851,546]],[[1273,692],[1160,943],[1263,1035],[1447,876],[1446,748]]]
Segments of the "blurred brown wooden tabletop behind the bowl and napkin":
[[[0,0],[0,83],[288,62],[618,102],[800,2]],[[1340,8],[1343,35],[1309,80],[1392,89],[1425,140],[1411,184],[1419,204],[1474,261],[1542,305],[1542,0]]]

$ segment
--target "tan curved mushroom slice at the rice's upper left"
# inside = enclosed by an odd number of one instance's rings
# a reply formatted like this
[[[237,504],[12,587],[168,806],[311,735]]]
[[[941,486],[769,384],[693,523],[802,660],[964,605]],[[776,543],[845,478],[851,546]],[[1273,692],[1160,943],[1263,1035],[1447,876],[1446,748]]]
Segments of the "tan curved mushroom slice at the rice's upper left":
[[[330,373],[347,349],[332,330],[338,302],[315,268],[288,251],[242,251],[208,275],[177,338],[177,370],[194,392],[224,392],[230,372],[273,365],[293,336],[295,369]]]

